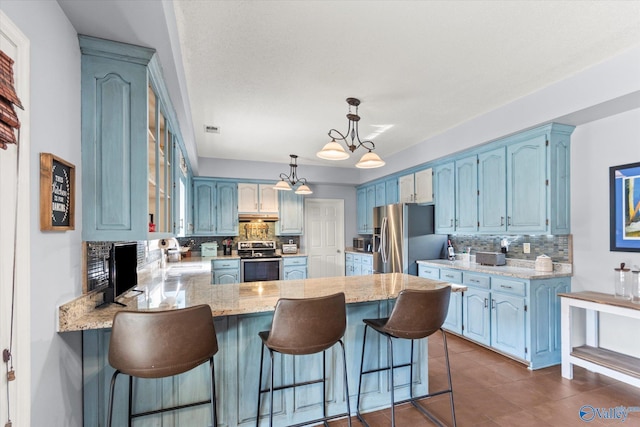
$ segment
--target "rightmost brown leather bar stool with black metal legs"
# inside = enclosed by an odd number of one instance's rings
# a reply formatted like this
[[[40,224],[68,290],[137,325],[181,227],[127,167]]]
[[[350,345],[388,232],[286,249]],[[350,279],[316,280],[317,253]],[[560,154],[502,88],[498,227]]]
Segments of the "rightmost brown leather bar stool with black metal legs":
[[[441,329],[447,317],[447,311],[449,310],[449,298],[451,297],[451,288],[443,287],[433,290],[415,290],[405,289],[400,292],[396,304],[391,311],[391,315],[383,319],[364,319],[364,336],[362,338],[362,359],[360,360],[360,378],[358,380],[358,401],[356,413],[358,419],[362,421],[365,426],[368,426],[367,422],[362,418],[360,414],[360,390],[362,387],[362,375],[370,374],[374,372],[390,370],[391,374],[391,425],[395,426],[395,405],[401,403],[411,402],[420,412],[427,416],[431,421],[438,425],[442,425],[432,414],[430,414],[424,407],[417,403],[418,399],[424,399],[427,397],[438,396],[440,394],[449,393],[449,399],[451,403],[451,418],[453,425],[456,425],[456,414],[453,406],[453,389],[451,386],[451,368],[449,366],[449,353],[447,350],[447,337],[444,331]],[[383,368],[371,369],[363,371],[364,366],[364,349],[367,340],[367,329],[371,328],[374,331],[387,337],[387,352],[389,357],[389,366]],[[394,384],[393,384],[393,370],[395,368],[409,367],[409,378],[413,379],[413,342],[417,339],[426,338],[436,331],[442,332],[442,341],[444,345],[444,355],[447,368],[447,377],[449,380],[449,388],[441,390],[435,393],[429,393],[423,396],[413,396],[412,383],[409,383],[409,399],[395,402],[394,399]],[[397,339],[410,339],[411,340],[411,362],[402,365],[393,364],[393,340]]]

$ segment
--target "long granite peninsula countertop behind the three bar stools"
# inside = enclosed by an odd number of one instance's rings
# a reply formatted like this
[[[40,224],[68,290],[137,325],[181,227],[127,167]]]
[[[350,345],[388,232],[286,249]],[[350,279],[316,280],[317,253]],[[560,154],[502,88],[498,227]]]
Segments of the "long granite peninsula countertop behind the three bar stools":
[[[298,255],[299,256],[299,255]],[[401,273],[342,276],[304,280],[274,280],[228,285],[211,284],[211,259],[167,263],[152,277],[140,280],[136,290],[118,301],[95,308],[95,296],[83,295],[58,308],[58,332],[110,328],[119,310],[168,310],[208,304],[213,316],[273,311],[279,298],[311,298],[344,292],[347,303],[396,298],[402,289],[436,289],[448,283]],[[453,291],[466,287],[451,285]]]

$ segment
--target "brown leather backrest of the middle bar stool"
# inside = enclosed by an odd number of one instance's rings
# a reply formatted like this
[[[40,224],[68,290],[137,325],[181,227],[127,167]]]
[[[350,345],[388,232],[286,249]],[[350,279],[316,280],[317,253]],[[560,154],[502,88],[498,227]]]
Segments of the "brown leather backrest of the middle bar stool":
[[[266,345],[284,354],[318,353],[337,343],[346,327],[342,292],[318,298],[281,298]]]

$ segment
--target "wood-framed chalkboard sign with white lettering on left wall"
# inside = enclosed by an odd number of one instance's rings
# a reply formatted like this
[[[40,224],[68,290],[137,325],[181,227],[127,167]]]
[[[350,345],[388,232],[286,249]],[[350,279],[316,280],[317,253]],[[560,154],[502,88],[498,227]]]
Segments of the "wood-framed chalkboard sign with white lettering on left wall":
[[[75,169],[51,153],[40,153],[40,230],[75,229]]]

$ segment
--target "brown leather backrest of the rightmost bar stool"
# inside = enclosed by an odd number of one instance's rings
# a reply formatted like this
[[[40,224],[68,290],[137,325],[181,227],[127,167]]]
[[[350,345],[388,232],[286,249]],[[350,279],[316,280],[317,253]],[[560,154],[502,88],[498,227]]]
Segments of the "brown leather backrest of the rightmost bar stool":
[[[440,329],[449,311],[451,287],[439,289],[405,289],[382,331],[405,339],[428,337]]]

